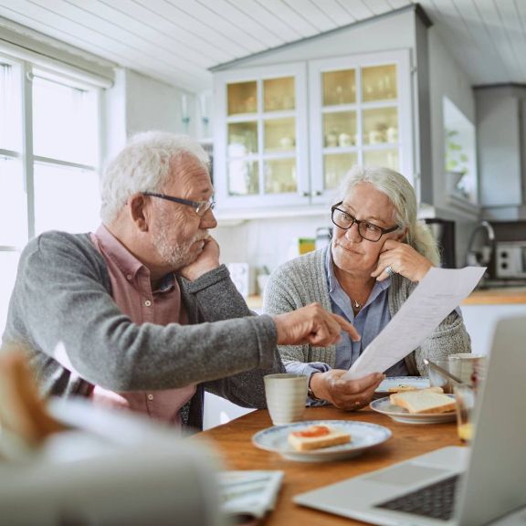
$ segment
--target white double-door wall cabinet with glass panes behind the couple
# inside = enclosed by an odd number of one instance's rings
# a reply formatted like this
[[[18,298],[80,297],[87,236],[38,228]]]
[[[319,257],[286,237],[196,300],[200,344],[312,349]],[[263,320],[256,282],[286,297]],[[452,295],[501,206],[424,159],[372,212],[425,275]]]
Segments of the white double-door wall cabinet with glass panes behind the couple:
[[[413,176],[408,50],[226,70],[215,87],[220,211],[326,205],[356,163]]]

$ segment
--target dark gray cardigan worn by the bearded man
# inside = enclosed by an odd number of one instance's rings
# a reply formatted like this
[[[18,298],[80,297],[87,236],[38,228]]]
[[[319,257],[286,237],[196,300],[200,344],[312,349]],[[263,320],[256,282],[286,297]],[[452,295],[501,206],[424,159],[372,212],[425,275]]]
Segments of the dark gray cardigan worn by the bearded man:
[[[248,310],[223,265],[178,280],[189,325],[133,323],[111,298],[89,235],[47,232],[22,252],[3,340],[30,350],[42,395],[89,395],[92,384],[147,391],[205,383],[238,405],[264,407],[263,376],[283,372],[274,321]],[[202,387],[192,405],[188,423],[199,427]]]

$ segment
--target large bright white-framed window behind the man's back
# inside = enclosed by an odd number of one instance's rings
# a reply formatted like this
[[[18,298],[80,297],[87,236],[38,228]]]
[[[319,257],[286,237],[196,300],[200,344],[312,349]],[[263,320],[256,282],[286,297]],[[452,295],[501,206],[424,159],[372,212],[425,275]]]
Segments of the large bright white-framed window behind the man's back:
[[[0,55],[0,333],[20,250],[99,223],[100,89]]]

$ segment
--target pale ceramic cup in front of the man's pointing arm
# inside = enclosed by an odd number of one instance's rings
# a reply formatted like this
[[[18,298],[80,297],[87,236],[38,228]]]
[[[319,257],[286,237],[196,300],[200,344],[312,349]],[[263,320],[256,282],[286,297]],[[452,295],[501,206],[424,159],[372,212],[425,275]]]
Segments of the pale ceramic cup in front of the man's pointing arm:
[[[308,377],[304,374],[267,374],[264,382],[272,424],[283,426],[301,420],[307,402]]]

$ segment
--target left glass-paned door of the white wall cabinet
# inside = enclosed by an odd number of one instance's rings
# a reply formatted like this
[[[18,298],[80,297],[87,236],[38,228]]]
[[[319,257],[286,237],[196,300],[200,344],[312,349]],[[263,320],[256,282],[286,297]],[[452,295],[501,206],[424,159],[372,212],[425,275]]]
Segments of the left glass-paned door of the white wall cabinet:
[[[218,74],[219,210],[308,204],[306,65]]]

